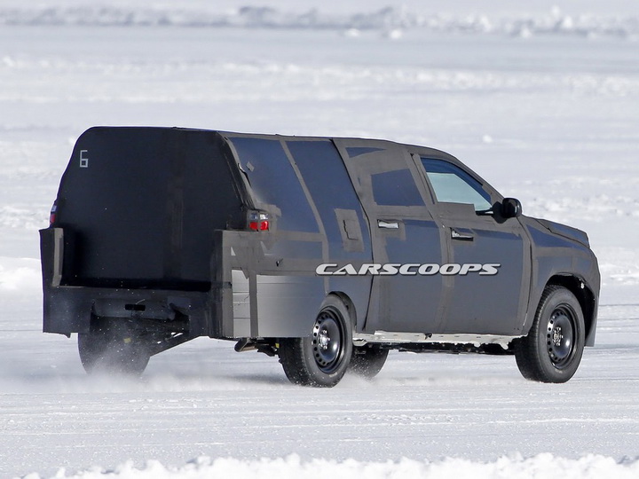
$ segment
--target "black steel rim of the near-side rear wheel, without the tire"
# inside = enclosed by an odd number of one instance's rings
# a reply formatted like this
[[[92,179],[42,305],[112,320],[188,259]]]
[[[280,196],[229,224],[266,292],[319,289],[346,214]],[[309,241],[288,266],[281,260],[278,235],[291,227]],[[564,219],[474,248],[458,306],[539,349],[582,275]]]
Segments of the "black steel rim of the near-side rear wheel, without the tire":
[[[343,358],[343,331],[332,310],[323,310],[315,320],[312,334],[313,356],[322,373],[333,373]]]

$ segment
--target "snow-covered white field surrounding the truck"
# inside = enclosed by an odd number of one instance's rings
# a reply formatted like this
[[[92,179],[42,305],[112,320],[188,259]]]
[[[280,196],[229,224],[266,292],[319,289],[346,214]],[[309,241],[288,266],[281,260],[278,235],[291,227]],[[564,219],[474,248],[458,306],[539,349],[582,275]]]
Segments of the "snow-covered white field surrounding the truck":
[[[639,476],[634,0],[87,4],[0,0],[1,477]],[[304,389],[203,338],[140,381],[87,377],[75,338],[41,332],[37,230],[76,137],[103,124],[453,153],[588,232],[596,347],[564,385],[512,357],[391,352],[374,381]]]

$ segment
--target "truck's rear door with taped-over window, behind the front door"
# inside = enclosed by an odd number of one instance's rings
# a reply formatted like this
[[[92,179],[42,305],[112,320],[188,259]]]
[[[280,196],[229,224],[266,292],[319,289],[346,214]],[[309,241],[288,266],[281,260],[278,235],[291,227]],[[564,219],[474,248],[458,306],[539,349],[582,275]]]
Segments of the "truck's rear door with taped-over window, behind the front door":
[[[403,145],[339,139],[370,224],[375,266],[365,331],[433,333],[442,318],[442,278],[420,274],[446,254],[429,193]]]

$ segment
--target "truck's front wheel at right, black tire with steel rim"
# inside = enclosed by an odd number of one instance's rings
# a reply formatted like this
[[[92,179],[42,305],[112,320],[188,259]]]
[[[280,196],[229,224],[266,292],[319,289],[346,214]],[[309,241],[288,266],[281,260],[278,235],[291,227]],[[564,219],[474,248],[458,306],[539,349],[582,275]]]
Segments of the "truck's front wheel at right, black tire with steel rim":
[[[519,371],[531,381],[570,380],[583,355],[585,329],[574,294],[565,287],[546,287],[531,330],[515,344]]]

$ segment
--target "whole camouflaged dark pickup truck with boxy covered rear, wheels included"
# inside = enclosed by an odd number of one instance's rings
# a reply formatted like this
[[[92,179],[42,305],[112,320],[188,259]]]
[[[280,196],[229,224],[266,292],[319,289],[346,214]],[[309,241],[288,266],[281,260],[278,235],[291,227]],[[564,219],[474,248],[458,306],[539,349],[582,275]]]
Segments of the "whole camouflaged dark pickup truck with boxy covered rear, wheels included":
[[[373,377],[389,349],[564,382],[595,342],[586,233],[424,146],[91,128],[40,234],[43,331],[77,334],[90,373],[209,336],[308,386]]]

